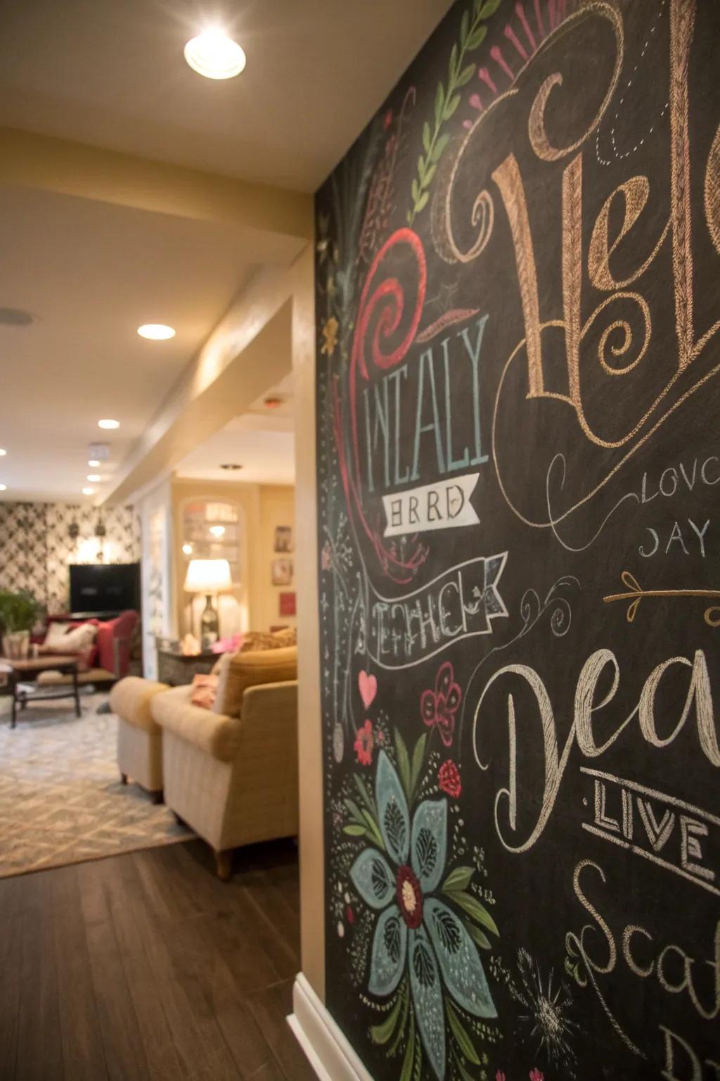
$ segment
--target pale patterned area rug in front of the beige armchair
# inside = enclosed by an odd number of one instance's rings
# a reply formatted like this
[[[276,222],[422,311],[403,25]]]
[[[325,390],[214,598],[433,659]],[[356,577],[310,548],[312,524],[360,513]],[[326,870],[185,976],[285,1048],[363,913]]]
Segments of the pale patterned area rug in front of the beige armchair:
[[[120,783],[107,695],[36,703],[10,728],[0,699],[0,878],[185,841],[164,804]]]

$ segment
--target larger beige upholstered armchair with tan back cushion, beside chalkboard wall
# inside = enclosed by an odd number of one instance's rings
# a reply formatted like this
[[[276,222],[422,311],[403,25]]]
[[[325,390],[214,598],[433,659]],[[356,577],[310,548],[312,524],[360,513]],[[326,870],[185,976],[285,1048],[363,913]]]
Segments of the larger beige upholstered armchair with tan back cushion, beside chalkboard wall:
[[[215,851],[298,831],[297,649],[226,655],[213,710],[190,686],[151,699],[162,729],[165,803]]]

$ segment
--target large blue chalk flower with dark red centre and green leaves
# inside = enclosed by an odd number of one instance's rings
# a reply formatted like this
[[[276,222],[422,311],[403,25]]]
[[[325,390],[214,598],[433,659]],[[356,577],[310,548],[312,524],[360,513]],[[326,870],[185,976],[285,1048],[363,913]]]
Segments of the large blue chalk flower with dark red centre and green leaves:
[[[350,871],[359,896],[378,912],[368,991],[388,998],[403,980],[403,993],[390,1016],[396,1025],[403,1001],[407,1017],[408,1000],[404,996],[409,987],[408,1046],[415,1041],[417,1026],[422,1050],[441,1081],[447,1066],[446,1016],[452,1036],[458,1039],[460,1032],[466,1053],[474,1054],[449,999],[473,1017],[498,1014],[468,925],[438,894],[454,902],[471,919],[481,920],[492,933],[498,934],[498,929],[479,902],[465,892],[472,867],[454,868],[444,880],[448,858],[447,800],[424,800],[411,817],[397,772],[381,750],[372,802],[377,820],[370,816],[371,828],[364,835],[371,843]],[[479,929],[475,933],[481,934]],[[406,1062],[409,1053],[406,1051]]]

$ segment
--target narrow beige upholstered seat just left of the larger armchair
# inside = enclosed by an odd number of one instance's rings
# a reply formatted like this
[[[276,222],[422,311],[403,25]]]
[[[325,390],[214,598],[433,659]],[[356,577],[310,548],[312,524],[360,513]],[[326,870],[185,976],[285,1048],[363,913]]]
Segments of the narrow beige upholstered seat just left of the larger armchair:
[[[118,768],[124,785],[128,777],[155,803],[163,798],[162,729],[150,712],[150,703],[167,691],[166,683],[127,676],[110,692],[110,709],[118,715]]]

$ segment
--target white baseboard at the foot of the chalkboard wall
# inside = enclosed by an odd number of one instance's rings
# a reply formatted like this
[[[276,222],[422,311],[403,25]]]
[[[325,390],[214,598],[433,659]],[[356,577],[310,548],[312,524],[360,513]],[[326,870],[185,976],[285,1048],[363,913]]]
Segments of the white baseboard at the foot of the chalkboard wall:
[[[320,1081],[372,1081],[372,1078],[300,972],[293,988],[287,1023]]]

